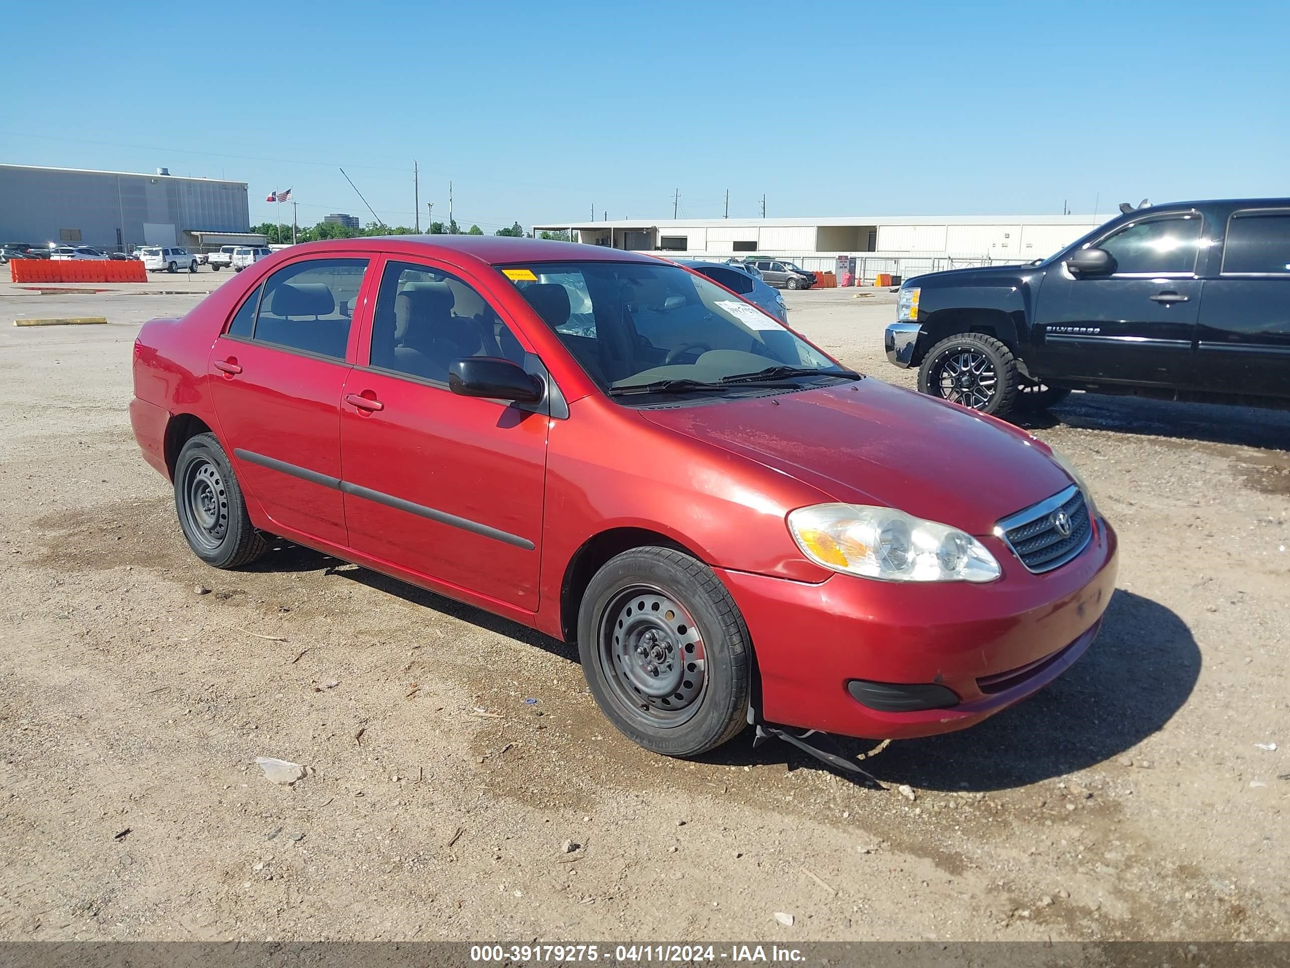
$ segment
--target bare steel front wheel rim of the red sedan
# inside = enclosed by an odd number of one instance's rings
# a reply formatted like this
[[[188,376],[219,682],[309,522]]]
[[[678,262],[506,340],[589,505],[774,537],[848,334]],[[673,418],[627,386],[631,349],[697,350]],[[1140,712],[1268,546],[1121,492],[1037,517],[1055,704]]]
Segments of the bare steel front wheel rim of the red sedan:
[[[601,613],[597,643],[610,693],[636,723],[675,728],[702,707],[707,649],[676,596],[649,585],[623,589]]]

